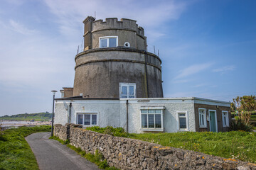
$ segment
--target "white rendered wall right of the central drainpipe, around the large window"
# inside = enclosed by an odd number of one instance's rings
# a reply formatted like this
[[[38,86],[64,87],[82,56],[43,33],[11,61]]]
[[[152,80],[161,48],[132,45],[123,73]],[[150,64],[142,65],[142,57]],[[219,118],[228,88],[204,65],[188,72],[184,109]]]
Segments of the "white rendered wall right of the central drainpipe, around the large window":
[[[154,131],[144,131],[141,129],[141,108],[142,107],[162,107],[164,106],[164,132],[178,132],[178,111],[186,111],[188,113],[188,131],[195,132],[195,117],[193,101],[187,99],[182,101],[182,99],[168,100],[164,98],[147,98],[149,100],[141,99],[129,99],[128,108],[128,120],[129,120],[129,131],[130,133],[143,133],[143,132],[154,132]],[[124,98],[120,99],[121,103],[125,103]],[[148,101],[148,102],[145,102]],[[126,106],[122,105],[121,111],[126,111]],[[122,113],[124,114],[124,113]]]

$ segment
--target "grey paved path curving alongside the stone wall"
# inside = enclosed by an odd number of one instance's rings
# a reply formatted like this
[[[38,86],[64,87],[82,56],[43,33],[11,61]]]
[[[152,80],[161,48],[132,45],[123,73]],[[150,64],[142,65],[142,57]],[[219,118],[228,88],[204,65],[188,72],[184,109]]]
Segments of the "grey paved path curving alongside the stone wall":
[[[26,137],[26,141],[36,156],[39,169],[98,169],[92,162],[80,157],[79,154],[60,142],[50,140],[49,137],[50,132],[33,133]]]

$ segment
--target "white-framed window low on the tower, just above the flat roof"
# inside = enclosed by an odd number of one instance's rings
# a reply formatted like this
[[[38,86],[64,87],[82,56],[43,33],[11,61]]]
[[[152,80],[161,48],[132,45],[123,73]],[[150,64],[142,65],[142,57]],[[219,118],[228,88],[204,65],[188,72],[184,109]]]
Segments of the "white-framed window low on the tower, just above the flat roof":
[[[136,98],[136,84],[120,83],[120,98]]]

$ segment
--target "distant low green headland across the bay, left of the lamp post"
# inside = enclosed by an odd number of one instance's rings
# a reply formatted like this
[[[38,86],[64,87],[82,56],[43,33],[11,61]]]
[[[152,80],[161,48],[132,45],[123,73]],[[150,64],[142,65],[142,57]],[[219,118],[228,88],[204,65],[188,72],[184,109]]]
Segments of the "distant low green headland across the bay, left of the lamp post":
[[[43,121],[49,120],[52,117],[52,113],[24,113],[17,115],[4,115],[0,117],[0,120],[36,120]]]

